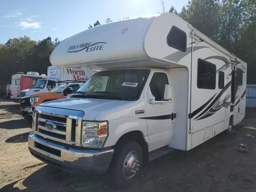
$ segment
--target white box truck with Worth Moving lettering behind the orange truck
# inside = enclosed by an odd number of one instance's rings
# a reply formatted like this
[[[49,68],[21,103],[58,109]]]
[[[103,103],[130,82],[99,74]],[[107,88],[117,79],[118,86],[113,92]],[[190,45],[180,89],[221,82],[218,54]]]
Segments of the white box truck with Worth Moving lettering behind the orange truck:
[[[26,89],[20,92],[20,97],[28,96],[35,93],[47,93],[51,89],[59,86],[62,81],[86,81],[95,72],[74,68],[59,68],[55,66],[49,66],[47,68],[48,79],[38,79],[34,88]]]

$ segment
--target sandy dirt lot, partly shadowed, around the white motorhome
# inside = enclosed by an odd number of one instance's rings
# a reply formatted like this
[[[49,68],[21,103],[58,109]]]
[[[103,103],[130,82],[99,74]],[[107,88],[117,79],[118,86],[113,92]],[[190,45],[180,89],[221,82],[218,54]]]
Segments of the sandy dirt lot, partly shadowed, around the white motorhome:
[[[104,176],[67,174],[34,158],[27,148],[30,131],[18,103],[0,100],[0,192],[113,191],[103,184]],[[251,150],[238,152],[238,144]],[[148,175],[124,191],[255,192],[255,160],[256,109],[246,109],[246,118],[235,126],[233,136],[220,134],[188,152],[174,150],[151,162]]]

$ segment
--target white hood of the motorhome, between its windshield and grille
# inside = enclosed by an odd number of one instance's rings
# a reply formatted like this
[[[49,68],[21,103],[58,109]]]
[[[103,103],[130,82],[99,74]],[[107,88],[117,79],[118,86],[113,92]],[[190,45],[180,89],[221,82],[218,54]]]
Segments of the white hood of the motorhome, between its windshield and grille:
[[[104,118],[113,114],[114,111],[127,109],[132,101],[106,100],[92,98],[65,98],[42,103],[40,106],[80,110],[84,112],[84,120],[95,120],[98,114],[104,112]],[[107,113],[107,114],[106,114]],[[72,114],[71,114],[72,115]],[[101,120],[105,120],[101,117]]]

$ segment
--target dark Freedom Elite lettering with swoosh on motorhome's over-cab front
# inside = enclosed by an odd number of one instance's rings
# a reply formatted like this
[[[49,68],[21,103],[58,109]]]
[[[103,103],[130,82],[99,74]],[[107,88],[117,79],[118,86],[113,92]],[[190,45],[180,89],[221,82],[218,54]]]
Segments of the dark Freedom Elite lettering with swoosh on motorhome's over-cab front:
[[[71,45],[71,46],[69,46],[67,52],[68,53],[77,53],[82,50],[85,50],[86,52],[103,50],[105,44],[108,44],[108,43],[106,43],[106,42],[96,42],[96,43],[87,42],[87,43],[82,43],[82,44],[78,44],[78,45]]]

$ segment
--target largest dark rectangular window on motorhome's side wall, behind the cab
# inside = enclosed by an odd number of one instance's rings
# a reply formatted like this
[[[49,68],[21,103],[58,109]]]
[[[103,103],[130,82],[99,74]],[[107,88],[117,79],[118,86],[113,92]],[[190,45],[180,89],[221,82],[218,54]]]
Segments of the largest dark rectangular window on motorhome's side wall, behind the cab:
[[[215,89],[216,65],[202,59],[198,59],[197,87],[200,89]]]

